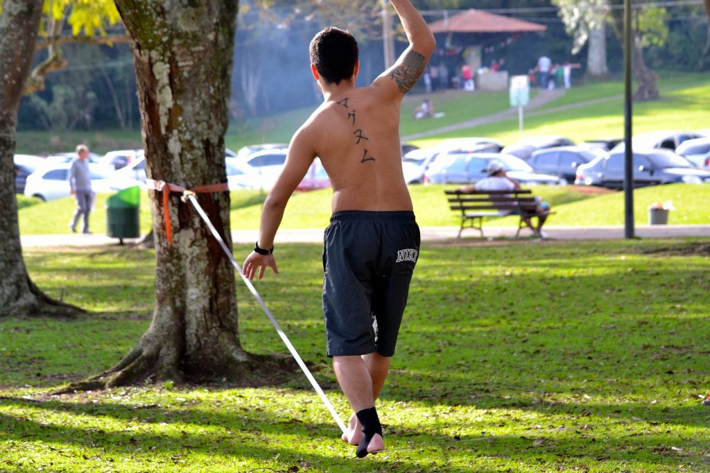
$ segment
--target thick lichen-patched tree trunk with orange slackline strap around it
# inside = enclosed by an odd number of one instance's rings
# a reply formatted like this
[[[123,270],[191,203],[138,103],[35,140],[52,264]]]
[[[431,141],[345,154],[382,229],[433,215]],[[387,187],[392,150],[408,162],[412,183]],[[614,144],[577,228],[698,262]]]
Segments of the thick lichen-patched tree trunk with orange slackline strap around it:
[[[148,178],[184,187],[226,183],[224,133],[236,0],[117,0],[133,39]],[[188,6],[189,5],[189,6]],[[151,192],[155,311],[148,331],[109,371],[58,392],[139,381],[240,379],[255,357],[239,342],[234,268],[190,203]],[[197,199],[227,245],[229,192]]]

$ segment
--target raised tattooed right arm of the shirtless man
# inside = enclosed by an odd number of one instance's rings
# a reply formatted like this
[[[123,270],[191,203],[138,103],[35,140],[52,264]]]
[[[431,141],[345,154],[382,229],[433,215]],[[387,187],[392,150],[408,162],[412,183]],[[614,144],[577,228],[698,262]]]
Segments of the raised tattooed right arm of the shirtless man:
[[[424,18],[409,0],[390,1],[402,21],[409,48],[373,82],[373,86],[381,87],[388,94],[406,94],[422,77],[436,42]]]

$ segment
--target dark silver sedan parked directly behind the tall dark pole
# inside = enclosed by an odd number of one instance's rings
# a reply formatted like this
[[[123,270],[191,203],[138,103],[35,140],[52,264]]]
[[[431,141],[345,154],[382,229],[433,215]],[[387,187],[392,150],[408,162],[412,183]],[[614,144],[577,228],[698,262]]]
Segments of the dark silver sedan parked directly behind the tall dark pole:
[[[624,153],[606,156],[580,165],[575,184],[623,187]],[[633,187],[670,183],[710,183],[710,170],[696,168],[682,156],[665,149],[634,151]]]

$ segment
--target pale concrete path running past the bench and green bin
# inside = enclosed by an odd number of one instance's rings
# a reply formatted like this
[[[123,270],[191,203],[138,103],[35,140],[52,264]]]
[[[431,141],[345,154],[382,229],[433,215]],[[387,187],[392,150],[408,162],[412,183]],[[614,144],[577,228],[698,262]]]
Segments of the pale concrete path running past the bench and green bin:
[[[483,242],[488,239],[507,238],[513,240],[515,227],[484,227],[484,238],[474,229],[466,229],[461,242]],[[454,243],[459,227],[422,227],[422,241],[432,243]],[[522,241],[530,237],[525,229],[520,232]],[[623,227],[546,227],[545,234],[554,240],[605,240],[622,239]],[[640,238],[672,238],[672,237],[710,237],[710,225],[640,225],[635,228],[635,235]],[[252,244],[258,236],[256,230],[239,230],[232,232],[236,244]],[[117,245],[118,239],[109,238],[104,234],[60,234],[60,235],[28,235],[21,237],[23,248],[47,246],[106,246]],[[283,243],[322,243],[323,229],[280,230],[276,235],[276,244]],[[126,244],[135,240],[126,239]]]

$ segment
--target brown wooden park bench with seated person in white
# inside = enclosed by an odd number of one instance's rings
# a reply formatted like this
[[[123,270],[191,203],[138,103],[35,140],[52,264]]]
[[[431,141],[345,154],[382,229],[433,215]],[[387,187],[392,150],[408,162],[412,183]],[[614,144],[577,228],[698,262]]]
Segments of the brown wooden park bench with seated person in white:
[[[481,237],[483,237],[484,218],[507,216],[499,214],[499,210],[510,210],[513,211],[513,214],[519,215],[520,221],[518,222],[518,232],[515,233],[515,238],[518,238],[521,229],[527,227],[527,224],[525,224],[526,218],[545,217],[555,213],[549,210],[537,212],[537,202],[530,190],[472,190],[465,192],[447,190],[444,192],[449,198],[451,210],[461,212],[461,229],[459,229],[457,238],[461,238],[461,232],[464,231],[464,228],[475,228],[481,232]]]

